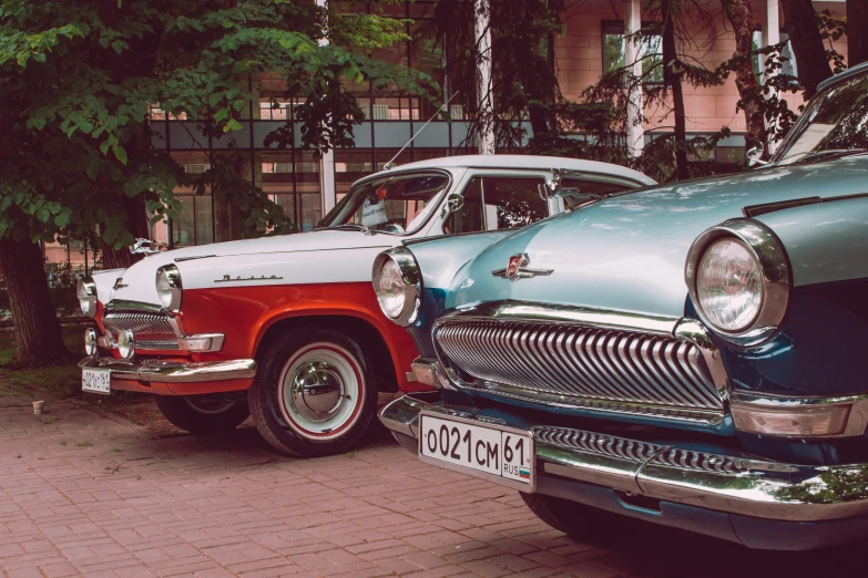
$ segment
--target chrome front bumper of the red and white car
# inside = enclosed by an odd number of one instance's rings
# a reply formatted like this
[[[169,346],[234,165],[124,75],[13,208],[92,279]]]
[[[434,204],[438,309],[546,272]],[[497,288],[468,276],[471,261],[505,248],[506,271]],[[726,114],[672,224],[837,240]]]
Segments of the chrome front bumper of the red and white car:
[[[129,361],[114,358],[84,358],[80,368],[110,370],[112,379],[157,383],[196,383],[203,381],[242,380],[256,375],[256,361],[183,362],[161,359]]]

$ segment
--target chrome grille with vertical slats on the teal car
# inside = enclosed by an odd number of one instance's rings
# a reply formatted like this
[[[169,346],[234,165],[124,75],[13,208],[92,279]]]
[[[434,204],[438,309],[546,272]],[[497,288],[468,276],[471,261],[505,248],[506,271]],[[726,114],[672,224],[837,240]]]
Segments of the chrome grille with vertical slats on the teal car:
[[[673,337],[458,318],[433,338],[447,368],[503,395],[701,421],[723,412],[702,352]]]

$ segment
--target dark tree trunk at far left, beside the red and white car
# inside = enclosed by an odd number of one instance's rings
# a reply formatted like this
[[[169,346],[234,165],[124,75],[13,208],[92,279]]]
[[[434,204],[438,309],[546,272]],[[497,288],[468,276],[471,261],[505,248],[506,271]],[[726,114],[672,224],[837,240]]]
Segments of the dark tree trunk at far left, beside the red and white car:
[[[18,362],[37,364],[69,355],[51,302],[42,251],[24,239],[0,239],[0,266],[6,272],[9,308],[18,342]]]

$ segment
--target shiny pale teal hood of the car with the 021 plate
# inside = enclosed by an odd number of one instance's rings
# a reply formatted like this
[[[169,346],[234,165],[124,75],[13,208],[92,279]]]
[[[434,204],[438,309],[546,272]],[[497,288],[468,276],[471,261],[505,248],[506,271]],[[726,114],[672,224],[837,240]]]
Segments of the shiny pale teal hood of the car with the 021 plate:
[[[752,205],[865,193],[868,156],[768,167],[613,197],[531,225],[481,252],[451,283],[447,308],[514,299],[681,317],[696,237]],[[511,256],[551,275],[492,276]]]

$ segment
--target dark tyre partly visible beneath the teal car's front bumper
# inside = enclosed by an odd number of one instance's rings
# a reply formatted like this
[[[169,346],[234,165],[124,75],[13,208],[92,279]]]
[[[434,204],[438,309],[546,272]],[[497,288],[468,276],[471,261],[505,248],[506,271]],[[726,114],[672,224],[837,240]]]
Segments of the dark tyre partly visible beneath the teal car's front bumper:
[[[569,499],[523,492],[521,498],[538,518],[578,540],[623,536],[630,534],[636,526],[636,520],[626,516],[619,516]]]

